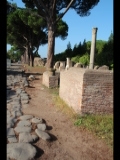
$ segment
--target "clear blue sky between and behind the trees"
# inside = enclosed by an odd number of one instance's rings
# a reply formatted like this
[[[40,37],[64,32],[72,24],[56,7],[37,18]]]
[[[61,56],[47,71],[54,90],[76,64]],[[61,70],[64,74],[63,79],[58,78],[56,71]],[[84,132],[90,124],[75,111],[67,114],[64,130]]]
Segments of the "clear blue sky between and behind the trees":
[[[12,2],[16,3],[18,7],[24,7],[22,0],[13,0]],[[86,42],[91,41],[94,27],[98,28],[97,40],[108,40],[113,32],[113,0],[100,0],[90,12],[89,16],[80,17],[70,9],[64,15],[62,20],[69,26],[68,36],[65,40],[55,39],[55,54],[65,51],[69,42],[73,48],[75,44],[83,43],[84,39]],[[10,48],[11,46],[7,44],[7,51]],[[41,58],[47,57],[47,49],[47,44],[39,47],[38,53]]]

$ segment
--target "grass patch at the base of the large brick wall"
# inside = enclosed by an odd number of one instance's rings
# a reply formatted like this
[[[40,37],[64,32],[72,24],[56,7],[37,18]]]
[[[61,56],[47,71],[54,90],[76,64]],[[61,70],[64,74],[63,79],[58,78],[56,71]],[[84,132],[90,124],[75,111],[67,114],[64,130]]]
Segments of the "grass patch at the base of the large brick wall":
[[[98,137],[105,139],[113,146],[113,115],[86,115],[78,117],[74,123],[81,128],[87,128]]]

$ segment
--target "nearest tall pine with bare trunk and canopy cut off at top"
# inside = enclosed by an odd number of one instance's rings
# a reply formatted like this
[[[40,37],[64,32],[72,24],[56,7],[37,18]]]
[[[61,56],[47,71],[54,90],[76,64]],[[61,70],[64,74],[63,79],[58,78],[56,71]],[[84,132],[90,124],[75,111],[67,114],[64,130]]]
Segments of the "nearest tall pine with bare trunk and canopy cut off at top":
[[[90,9],[96,6],[99,0],[22,0],[22,2],[25,3],[27,8],[37,8],[39,16],[47,23],[47,68],[52,68],[57,22],[63,18],[70,8],[74,9],[80,16],[90,15]],[[65,10],[61,12],[63,9]]]

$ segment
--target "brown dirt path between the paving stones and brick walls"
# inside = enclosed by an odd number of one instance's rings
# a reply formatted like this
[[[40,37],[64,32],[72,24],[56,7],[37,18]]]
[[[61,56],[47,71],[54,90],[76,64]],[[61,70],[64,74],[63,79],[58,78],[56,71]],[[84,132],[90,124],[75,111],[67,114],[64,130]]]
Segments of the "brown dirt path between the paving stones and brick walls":
[[[33,87],[26,88],[31,100],[23,112],[43,118],[52,141],[40,139],[36,143],[40,148],[36,160],[112,160],[112,151],[104,142],[75,127],[69,117],[55,107],[52,95],[43,89],[42,76],[39,77],[30,82]]]

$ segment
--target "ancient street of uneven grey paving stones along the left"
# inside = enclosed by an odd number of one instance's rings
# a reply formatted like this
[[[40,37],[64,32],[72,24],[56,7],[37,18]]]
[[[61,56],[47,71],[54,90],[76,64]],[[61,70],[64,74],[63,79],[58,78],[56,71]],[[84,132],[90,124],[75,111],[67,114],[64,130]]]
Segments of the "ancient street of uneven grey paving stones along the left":
[[[22,108],[29,107],[30,96],[25,92],[28,85],[20,65],[7,69],[7,159],[30,160],[37,152],[32,144],[39,137],[50,139],[42,118],[22,113]]]

